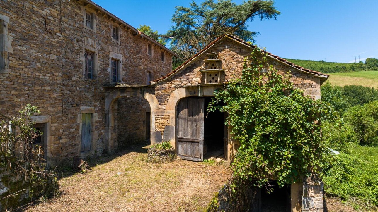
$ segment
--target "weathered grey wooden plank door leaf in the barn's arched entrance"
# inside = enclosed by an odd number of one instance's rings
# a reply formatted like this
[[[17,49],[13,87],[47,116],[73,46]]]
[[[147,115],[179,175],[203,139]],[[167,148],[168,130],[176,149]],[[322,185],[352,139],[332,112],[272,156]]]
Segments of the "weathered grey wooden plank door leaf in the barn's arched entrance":
[[[177,155],[203,161],[204,98],[184,98],[177,106]]]

